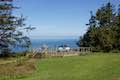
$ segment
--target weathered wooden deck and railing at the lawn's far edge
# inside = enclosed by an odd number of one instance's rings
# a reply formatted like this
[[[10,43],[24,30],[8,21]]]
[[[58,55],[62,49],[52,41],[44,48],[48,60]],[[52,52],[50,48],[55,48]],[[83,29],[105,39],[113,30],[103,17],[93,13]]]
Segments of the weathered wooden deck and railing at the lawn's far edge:
[[[70,51],[58,51],[57,48],[49,48],[41,50],[40,48],[34,49],[33,53],[43,53],[46,52],[48,56],[77,56],[80,54],[86,54],[92,52],[91,47],[79,47],[72,48]]]

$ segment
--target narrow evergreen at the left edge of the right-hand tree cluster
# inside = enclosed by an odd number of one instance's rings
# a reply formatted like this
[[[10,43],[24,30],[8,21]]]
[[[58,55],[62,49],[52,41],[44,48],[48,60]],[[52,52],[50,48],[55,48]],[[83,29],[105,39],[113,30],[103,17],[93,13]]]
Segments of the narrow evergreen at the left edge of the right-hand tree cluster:
[[[92,39],[93,37],[96,36],[97,22],[92,11],[90,12],[90,14],[91,14],[91,18],[89,20],[89,23],[86,24],[87,26],[89,26],[88,31],[83,37],[80,37],[80,41],[77,42],[78,46],[89,47],[89,46],[93,46],[95,43],[95,41],[93,41]]]

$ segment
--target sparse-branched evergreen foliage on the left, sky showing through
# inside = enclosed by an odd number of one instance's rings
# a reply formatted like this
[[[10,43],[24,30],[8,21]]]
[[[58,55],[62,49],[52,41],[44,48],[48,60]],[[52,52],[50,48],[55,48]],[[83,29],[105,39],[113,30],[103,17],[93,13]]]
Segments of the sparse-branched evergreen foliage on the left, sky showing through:
[[[9,54],[13,47],[29,48],[29,37],[23,34],[23,30],[33,29],[25,27],[25,18],[16,17],[13,10],[14,0],[0,0],[0,53]]]

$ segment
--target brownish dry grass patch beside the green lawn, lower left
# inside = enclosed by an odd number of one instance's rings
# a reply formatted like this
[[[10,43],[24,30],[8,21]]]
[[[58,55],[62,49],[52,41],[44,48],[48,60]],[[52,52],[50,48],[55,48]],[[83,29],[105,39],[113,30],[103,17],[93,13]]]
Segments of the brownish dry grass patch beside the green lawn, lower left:
[[[31,74],[35,71],[33,60],[18,60],[12,63],[0,64],[0,76],[19,76]]]

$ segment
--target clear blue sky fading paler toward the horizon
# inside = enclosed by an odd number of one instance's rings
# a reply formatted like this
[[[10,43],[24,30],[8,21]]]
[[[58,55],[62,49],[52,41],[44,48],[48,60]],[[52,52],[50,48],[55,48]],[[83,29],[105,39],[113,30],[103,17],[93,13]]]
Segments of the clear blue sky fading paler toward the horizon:
[[[36,38],[76,38],[87,31],[90,11],[110,0],[16,0],[16,14],[27,17],[26,24],[36,27],[27,33]],[[111,0],[117,4],[120,0]]]

